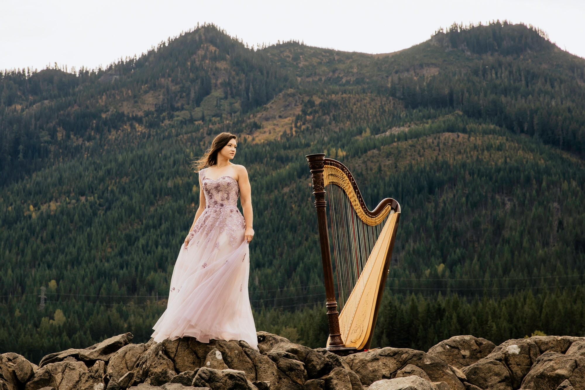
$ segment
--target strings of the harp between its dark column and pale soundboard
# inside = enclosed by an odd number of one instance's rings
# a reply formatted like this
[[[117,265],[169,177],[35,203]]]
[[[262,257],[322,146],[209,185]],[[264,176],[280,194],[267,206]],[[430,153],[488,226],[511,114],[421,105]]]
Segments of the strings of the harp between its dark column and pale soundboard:
[[[359,299],[348,302],[348,298],[352,290],[361,291],[364,288],[358,285],[359,276],[388,216],[378,225],[368,225],[359,218],[343,189],[333,184],[328,186],[327,194],[332,235],[330,249],[335,276],[333,283],[336,285],[338,310],[345,309],[354,313]],[[352,319],[353,314],[340,317],[340,327],[349,329]]]

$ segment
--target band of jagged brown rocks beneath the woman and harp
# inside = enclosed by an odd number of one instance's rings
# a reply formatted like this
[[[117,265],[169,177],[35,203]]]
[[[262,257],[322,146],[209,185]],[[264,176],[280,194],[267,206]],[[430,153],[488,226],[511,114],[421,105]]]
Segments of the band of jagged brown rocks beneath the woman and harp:
[[[120,334],[39,366],[0,355],[0,390],[585,390],[585,338],[535,336],[494,346],[473,336],[428,353],[377,348],[339,357],[258,332],[245,341],[184,337],[131,344]]]

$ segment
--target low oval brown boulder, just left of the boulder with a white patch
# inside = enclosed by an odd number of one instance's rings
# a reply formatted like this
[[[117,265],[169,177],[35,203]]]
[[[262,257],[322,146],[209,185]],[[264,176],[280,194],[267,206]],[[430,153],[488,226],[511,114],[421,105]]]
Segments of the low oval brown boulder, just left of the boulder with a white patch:
[[[494,348],[495,344],[485,338],[453,336],[431,347],[427,353],[453,367],[463,368],[486,357]]]

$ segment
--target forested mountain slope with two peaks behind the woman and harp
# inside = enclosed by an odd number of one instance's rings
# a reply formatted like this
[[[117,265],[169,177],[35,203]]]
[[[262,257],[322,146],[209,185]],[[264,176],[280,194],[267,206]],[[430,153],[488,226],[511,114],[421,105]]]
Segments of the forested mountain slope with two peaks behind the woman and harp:
[[[252,180],[259,330],[325,343],[304,158],[325,152],[368,206],[402,206],[374,343],[581,336],[584,72],[492,23],[375,56],[204,26],[105,70],[1,74],[0,350],[146,341],[197,209],[190,160],[220,131]]]

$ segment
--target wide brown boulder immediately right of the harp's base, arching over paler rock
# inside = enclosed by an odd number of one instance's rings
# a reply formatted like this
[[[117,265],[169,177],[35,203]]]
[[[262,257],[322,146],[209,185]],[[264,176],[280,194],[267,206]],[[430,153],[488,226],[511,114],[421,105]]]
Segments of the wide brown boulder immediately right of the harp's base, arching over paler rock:
[[[366,386],[380,379],[393,378],[402,367],[412,364],[425,371],[433,382],[447,382],[453,390],[464,389],[444,361],[422,351],[386,347],[348,355],[343,360]]]

